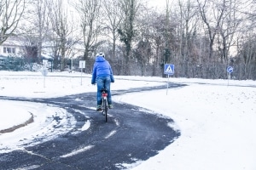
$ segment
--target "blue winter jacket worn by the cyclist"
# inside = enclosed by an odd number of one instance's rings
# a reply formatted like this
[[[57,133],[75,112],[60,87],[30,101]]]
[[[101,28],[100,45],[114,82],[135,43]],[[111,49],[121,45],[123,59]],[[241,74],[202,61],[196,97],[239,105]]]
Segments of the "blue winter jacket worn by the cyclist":
[[[113,72],[108,61],[102,56],[96,57],[95,63],[93,65],[91,84],[96,83],[96,77],[106,76],[110,76],[111,82],[114,82]]]

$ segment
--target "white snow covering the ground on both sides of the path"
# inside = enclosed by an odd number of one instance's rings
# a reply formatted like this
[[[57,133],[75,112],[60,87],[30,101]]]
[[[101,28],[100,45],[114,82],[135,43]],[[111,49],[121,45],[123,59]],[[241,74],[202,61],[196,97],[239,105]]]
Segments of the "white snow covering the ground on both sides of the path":
[[[58,76],[58,77],[50,77]],[[59,77],[65,76],[65,77]],[[73,72],[0,71],[0,96],[49,98],[68,94],[96,92],[90,75]],[[139,80],[139,81],[133,81]],[[132,81],[132,83],[131,83]],[[187,84],[181,88],[113,95],[114,102],[127,102],[172,118],[172,126],[181,135],[159,154],[147,161],[125,165],[132,170],[255,170],[256,169],[256,82],[236,80],[207,80],[170,77],[115,76],[112,90],[166,85],[166,82]],[[93,105],[91,109],[96,109]],[[17,111],[19,114],[17,114]],[[34,115],[34,122],[12,133],[0,134],[0,154],[22,149],[25,141],[48,133],[53,139],[61,133],[51,133],[47,116],[58,114],[64,128],[67,123],[64,109],[32,102],[0,99],[0,131],[18,125]],[[44,114],[42,114],[44,113]],[[75,122],[75,119],[72,120]],[[42,128],[44,127],[44,128]],[[90,127],[86,122],[80,131]],[[44,132],[42,132],[44,131]],[[79,132],[77,132],[79,133]],[[19,134],[19,135],[17,135]],[[9,150],[1,150],[9,148]]]

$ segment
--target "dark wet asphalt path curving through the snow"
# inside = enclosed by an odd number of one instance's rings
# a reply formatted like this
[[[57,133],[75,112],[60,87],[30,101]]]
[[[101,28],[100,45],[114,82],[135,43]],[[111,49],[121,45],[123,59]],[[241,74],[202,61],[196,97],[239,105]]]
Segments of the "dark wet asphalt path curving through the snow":
[[[170,83],[169,88],[179,88],[182,84]],[[133,88],[112,91],[113,95],[163,89]],[[180,135],[168,126],[172,119],[160,116],[134,105],[113,103],[108,111],[108,122],[101,112],[91,109],[96,105],[96,93],[68,95],[51,99],[25,99],[0,96],[0,99],[30,101],[55,105],[71,113],[76,125],[70,132],[34,146],[24,145],[24,150],[14,150],[0,154],[0,169],[125,169],[124,165],[145,161],[164,150]],[[83,114],[82,114],[83,113]],[[54,118],[58,121],[59,117]],[[85,122],[90,127],[79,131]],[[56,126],[55,128],[61,128]],[[88,150],[87,150],[88,149]],[[73,150],[81,150],[73,153]]]

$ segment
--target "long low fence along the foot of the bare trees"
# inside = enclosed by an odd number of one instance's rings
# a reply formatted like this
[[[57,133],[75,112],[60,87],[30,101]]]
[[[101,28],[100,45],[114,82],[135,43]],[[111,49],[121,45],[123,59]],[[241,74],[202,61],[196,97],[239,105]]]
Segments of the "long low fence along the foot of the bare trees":
[[[80,71],[79,59],[73,59],[73,70]],[[145,76],[145,77],[165,77],[164,65],[142,65],[138,62],[131,61],[129,65],[125,64],[122,60],[112,61],[114,75],[125,75],[125,70],[129,70],[129,75],[132,76]],[[85,62],[85,73],[90,74],[93,68],[94,59],[89,59]],[[175,63],[172,63],[175,65]],[[231,65],[234,70],[230,74],[232,79],[236,80],[256,80],[256,65]],[[227,79],[229,73],[227,72],[228,65],[223,64],[202,64],[191,65],[181,64],[175,65],[173,77],[187,77],[187,78],[204,78],[204,79]],[[0,71],[37,71],[40,68],[35,66],[34,63],[27,59],[20,58],[0,58]],[[71,65],[67,68],[71,69]]]

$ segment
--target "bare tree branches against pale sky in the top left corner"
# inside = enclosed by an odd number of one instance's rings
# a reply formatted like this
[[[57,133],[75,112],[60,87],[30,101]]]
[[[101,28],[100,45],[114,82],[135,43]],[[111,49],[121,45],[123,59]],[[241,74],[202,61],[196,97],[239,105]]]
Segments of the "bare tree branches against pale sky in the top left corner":
[[[0,45],[14,35],[24,8],[25,0],[0,1]]]

